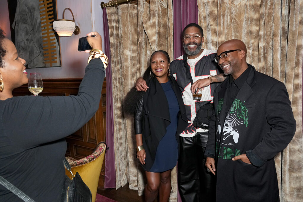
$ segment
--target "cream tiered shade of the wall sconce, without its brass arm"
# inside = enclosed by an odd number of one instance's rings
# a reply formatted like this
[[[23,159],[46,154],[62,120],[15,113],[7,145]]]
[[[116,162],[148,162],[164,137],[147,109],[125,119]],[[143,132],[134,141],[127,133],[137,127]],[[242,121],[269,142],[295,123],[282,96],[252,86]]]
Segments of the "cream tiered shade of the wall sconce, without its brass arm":
[[[54,20],[53,28],[59,36],[71,36],[76,29],[76,25],[72,20]]]

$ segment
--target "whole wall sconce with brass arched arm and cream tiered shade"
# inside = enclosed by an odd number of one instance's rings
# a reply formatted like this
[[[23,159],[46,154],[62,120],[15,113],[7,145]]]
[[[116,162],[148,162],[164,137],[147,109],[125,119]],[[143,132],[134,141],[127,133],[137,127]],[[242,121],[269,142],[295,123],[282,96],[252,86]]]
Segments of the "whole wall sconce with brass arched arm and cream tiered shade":
[[[64,12],[66,9],[68,9],[72,13],[73,20],[64,19]],[[80,28],[75,25],[74,14],[70,8],[64,9],[62,20],[54,20],[53,28],[57,32],[58,36],[71,36],[73,33],[75,35],[78,35],[80,33]]]

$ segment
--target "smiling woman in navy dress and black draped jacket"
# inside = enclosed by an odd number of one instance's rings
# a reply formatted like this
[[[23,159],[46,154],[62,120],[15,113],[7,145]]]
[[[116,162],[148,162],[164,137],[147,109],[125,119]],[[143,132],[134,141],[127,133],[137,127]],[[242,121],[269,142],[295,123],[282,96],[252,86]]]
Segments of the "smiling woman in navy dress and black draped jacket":
[[[137,158],[145,169],[145,201],[167,202],[171,193],[171,169],[178,160],[179,134],[188,122],[182,93],[169,76],[170,59],[159,50],[151,55],[149,89],[135,109]]]

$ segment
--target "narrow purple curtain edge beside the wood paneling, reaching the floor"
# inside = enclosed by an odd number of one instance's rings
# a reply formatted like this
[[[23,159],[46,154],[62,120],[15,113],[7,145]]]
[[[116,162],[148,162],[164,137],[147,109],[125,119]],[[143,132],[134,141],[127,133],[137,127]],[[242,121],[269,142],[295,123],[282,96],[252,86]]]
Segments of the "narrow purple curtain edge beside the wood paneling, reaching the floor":
[[[106,68],[106,144],[109,150],[105,152],[105,176],[104,188],[116,187],[115,148],[114,148],[114,115],[112,95],[112,65],[111,49],[109,44],[109,32],[106,8],[103,9],[103,32],[104,32],[104,53],[108,57]]]

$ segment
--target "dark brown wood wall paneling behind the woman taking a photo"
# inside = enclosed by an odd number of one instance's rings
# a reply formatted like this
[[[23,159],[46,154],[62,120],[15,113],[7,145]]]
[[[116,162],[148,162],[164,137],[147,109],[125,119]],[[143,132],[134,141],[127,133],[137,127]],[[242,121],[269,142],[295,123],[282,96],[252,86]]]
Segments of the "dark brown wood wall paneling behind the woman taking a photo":
[[[38,96],[69,96],[77,95],[82,79],[43,79],[44,89]],[[14,89],[13,96],[32,95],[28,86],[23,85]],[[67,136],[67,150],[65,156],[81,159],[90,155],[98,142],[105,140],[106,132],[106,79],[102,86],[102,96],[99,109],[80,130]],[[105,158],[100,178],[104,179]],[[100,184],[101,182],[101,184]],[[104,180],[99,180],[98,187],[104,187]]]

